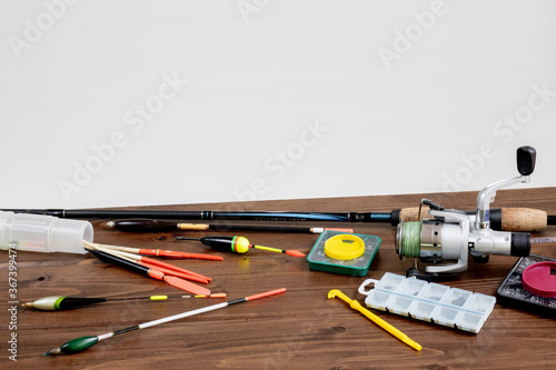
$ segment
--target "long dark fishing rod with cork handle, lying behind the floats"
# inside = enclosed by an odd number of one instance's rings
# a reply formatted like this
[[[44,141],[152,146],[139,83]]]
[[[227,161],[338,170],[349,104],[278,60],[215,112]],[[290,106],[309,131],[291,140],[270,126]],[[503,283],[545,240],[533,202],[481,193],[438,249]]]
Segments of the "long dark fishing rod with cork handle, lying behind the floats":
[[[169,211],[169,210],[71,210],[71,209],[7,209],[16,213],[48,214],[69,219],[173,219],[173,220],[217,220],[217,221],[318,221],[318,222],[377,222],[397,226],[401,221],[415,221],[428,217],[427,209],[401,208],[391,212],[272,212],[272,211]],[[466,211],[469,217],[475,211]],[[556,216],[530,208],[490,209],[492,228],[504,231],[542,231],[547,224],[556,224]]]

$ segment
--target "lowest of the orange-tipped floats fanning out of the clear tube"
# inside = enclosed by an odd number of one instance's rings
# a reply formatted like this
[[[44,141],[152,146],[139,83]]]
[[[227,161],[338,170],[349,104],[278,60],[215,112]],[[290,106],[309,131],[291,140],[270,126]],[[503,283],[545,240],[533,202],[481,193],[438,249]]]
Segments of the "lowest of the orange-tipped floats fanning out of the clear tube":
[[[125,258],[121,258],[118,256],[113,256],[113,254],[107,253],[107,252],[101,251],[101,250],[90,249],[89,247],[86,247],[86,249],[88,249],[88,251],[91,254],[93,254],[95,257],[99,258],[100,260],[102,260],[105,262],[116,264],[118,267],[131,270],[133,272],[141,273],[143,276],[150,277],[150,278],[156,279],[156,280],[162,280],[166,283],[168,283],[169,286],[185,290],[185,291],[190,292],[192,294],[196,294],[196,296],[209,296],[210,294],[210,290],[207,288],[197,286],[192,282],[180,279],[176,276],[170,276],[170,274],[163,273],[162,271],[160,271],[158,269],[141,266],[139,263],[136,263],[132,260],[130,261],[128,259],[125,259]]]

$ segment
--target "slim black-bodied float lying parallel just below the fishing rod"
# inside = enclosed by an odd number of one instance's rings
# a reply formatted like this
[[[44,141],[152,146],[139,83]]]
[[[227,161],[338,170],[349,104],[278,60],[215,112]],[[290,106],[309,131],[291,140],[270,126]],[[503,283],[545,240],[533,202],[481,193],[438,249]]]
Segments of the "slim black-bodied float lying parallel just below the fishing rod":
[[[279,226],[256,226],[256,224],[208,224],[208,223],[180,223],[163,220],[127,219],[108,221],[106,227],[127,232],[168,232],[179,230],[241,230],[261,232],[288,232],[288,233],[322,233],[327,230],[354,232],[354,229],[338,228],[315,228],[315,227],[279,227]]]

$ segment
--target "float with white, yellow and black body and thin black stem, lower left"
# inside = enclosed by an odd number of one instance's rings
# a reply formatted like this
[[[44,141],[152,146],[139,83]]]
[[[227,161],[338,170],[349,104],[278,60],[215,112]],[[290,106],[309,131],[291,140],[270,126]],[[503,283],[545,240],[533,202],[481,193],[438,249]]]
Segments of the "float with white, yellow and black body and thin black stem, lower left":
[[[226,298],[226,293],[211,293],[209,296],[149,296],[149,297],[126,297],[126,298],[92,298],[92,297],[44,297],[31,302],[22,303],[22,307],[28,309],[36,309],[41,311],[63,311],[72,310],[86,306],[106,303],[106,302],[121,302],[131,300],[151,300],[163,301],[168,299],[186,299],[186,298]]]

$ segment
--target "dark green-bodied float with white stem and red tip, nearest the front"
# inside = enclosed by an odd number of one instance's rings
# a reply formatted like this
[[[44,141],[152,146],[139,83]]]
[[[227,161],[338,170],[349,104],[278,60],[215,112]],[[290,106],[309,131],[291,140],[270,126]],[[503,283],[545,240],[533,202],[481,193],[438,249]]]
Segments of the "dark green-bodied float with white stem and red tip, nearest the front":
[[[140,324],[137,324],[137,326],[132,326],[132,327],[129,327],[129,328],[125,328],[125,329],[120,329],[120,330],[116,330],[116,331],[110,331],[110,332],[107,332],[107,333],[100,334],[100,336],[88,336],[88,337],[75,338],[75,339],[72,339],[72,340],[63,343],[60,347],[51,349],[50,351],[43,353],[43,356],[73,354],[73,353],[78,353],[78,352],[81,352],[81,351],[85,351],[85,350],[91,348],[92,346],[97,344],[99,341],[106,340],[108,338],[112,338],[112,337],[120,336],[120,334],[123,334],[123,333],[127,333],[127,332],[130,332],[130,331],[135,331],[135,330],[139,330],[139,329],[146,329],[146,328],[155,327],[155,326],[158,326],[158,324],[161,324],[161,323],[166,323],[166,322],[170,322],[170,321],[173,321],[173,320],[183,319],[183,318],[191,317],[191,316],[195,316],[195,314],[199,314],[199,313],[205,313],[205,312],[209,312],[209,311],[222,309],[222,308],[226,308],[226,307],[229,307],[229,306],[232,306],[232,304],[242,303],[242,302],[249,302],[249,301],[254,301],[256,299],[260,299],[260,298],[265,298],[265,297],[269,297],[269,296],[275,296],[275,294],[284,293],[285,291],[286,291],[286,288],[280,288],[280,289],[270,290],[270,291],[267,291],[267,292],[262,292],[262,293],[258,293],[258,294],[254,294],[254,296],[249,296],[249,297],[239,298],[239,299],[236,299],[236,300],[232,300],[232,301],[228,301],[228,302],[217,303],[217,304],[208,306],[208,307],[200,308],[200,309],[197,309],[197,310],[187,311],[187,312],[178,313],[178,314],[175,314],[175,316],[169,316],[169,317],[166,317],[166,318],[162,318],[162,319],[143,322],[143,323],[140,323]]]

